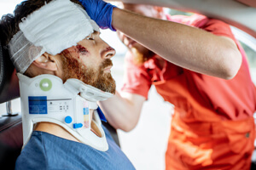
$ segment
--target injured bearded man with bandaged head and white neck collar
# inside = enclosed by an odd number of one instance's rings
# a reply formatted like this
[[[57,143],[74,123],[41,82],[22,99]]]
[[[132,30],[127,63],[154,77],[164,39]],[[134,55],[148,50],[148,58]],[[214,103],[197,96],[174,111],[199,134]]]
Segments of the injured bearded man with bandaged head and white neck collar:
[[[1,25],[20,81],[16,169],[134,169],[96,111],[115,93],[115,50],[79,1],[26,0]]]

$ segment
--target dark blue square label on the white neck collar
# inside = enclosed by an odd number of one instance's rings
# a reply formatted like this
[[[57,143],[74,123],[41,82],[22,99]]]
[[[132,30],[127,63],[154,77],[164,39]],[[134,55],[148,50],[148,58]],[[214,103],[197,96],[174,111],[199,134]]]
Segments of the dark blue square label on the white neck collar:
[[[47,114],[46,96],[28,96],[29,114]]]

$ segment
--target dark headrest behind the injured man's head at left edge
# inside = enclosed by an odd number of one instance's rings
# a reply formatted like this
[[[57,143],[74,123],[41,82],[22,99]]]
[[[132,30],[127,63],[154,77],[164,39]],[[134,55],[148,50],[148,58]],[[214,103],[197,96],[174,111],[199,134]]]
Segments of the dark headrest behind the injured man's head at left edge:
[[[6,47],[3,42],[3,29],[0,25],[0,104],[20,96],[19,80]]]

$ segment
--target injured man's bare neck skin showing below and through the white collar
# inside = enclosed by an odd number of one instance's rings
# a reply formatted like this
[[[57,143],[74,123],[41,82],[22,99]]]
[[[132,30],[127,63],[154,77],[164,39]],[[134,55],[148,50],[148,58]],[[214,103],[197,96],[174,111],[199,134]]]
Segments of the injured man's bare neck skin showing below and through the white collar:
[[[93,110],[90,111],[90,115],[92,115]],[[93,123],[91,123],[93,124]],[[91,126],[91,131],[96,133],[98,132],[97,127]],[[63,139],[73,140],[76,142],[79,142],[78,139],[74,138],[71,133],[68,133],[67,130],[63,127],[61,127],[58,124],[52,123],[52,122],[38,122],[36,127],[34,128],[36,131],[42,131],[45,133],[50,133],[55,136],[58,136]],[[96,133],[97,136],[101,136],[101,134]]]

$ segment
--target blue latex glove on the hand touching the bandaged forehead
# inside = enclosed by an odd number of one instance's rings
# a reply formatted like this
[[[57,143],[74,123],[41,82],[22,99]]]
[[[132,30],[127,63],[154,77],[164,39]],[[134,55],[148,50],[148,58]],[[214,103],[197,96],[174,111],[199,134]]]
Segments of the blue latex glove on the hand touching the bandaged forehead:
[[[100,28],[109,28],[112,31],[116,31],[111,25],[113,8],[115,6],[102,0],[79,0],[79,2],[83,4],[90,19],[95,20]]]

